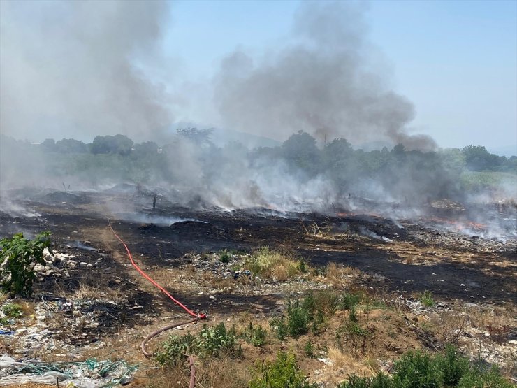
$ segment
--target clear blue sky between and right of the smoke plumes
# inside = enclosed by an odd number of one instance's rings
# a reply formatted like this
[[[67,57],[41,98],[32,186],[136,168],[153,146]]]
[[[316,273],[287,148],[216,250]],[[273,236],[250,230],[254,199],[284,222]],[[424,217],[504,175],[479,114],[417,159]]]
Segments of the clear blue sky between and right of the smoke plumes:
[[[235,48],[260,54],[289,41],[299,5],[175,1],[163,48],[179,78],[210,80]],[[363,6],[386,79],[416,107],[415,133],[431,135],[442,147],[517,145],[517,1]]]

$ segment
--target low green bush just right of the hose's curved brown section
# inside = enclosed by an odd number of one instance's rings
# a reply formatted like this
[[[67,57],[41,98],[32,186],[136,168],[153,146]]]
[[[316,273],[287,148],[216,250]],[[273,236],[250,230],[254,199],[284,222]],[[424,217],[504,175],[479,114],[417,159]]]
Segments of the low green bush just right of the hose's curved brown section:
[[[221,322],[214,327],[203,325],[203,329],[196,336],[191,333],[182,337],[169,336],[161,344],[155,357],[161,365],[172,366],[180,364],[184,360],[185,354],[214,357],[223,353],[231,357],[242,356],[242,349],[237,343],[235,330],[227,330],[224,323]]]

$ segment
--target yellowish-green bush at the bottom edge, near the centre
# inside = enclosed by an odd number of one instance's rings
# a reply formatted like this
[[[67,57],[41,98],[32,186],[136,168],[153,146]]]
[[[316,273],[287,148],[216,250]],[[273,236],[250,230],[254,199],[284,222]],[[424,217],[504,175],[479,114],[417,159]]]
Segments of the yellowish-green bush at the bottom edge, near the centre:
[[[278,352],[273,362],[256,365],[249,388],[316,388],[305,381],[305,375],[296,365],[293,353]]]

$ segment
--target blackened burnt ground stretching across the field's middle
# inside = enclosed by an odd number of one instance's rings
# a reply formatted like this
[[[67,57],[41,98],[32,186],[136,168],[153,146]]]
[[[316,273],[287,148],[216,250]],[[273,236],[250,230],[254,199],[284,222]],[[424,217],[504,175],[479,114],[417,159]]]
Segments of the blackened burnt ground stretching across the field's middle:
[[[64,245],[89,241],[108,254],[123,252],[108,233],[109,218],[133,255],[145,257],[149,266],[178,266],[191,252],[251,252],[268,245],[294,250],[314,266],[335,262],[377,275],[372,287],[400,293],[432,290],[450,301],[517,302],[516,239],[502,243],[370,215],[189,210],[169,204],[152,211],[138,198],[122,194],[47,194],[45,200],[54,197],[48,203],[22,203],[39,217],[0,213],[0,235],[50,230]],[[119,211],[104,210],[110,208]],[[178,218],[184,221],[167,224]],[[314,224],[319,231],[306,233]],[[88,251],[81,254],[87,256]],[[114,273],[128,271],[117,263],[110,266]]]

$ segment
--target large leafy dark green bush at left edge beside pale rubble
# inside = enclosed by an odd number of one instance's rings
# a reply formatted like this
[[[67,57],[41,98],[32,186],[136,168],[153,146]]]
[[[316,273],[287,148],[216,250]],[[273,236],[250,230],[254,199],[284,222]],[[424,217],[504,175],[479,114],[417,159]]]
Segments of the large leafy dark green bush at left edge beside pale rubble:
[[[38,233],[34,240],[17,233],[12,238],[0,240],[0,285],[3,292],[27,296],[32,292],[36,278],[34,266],[45,265],[43,250],[50,254],[50,231]]]

